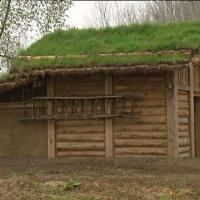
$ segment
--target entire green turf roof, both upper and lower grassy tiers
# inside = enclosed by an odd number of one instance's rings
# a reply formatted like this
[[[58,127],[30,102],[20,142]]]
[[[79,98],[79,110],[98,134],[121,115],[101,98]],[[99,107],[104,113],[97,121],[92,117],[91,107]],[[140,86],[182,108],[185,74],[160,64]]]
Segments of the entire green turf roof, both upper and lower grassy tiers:
[[[12,62],[11,71],[29,71],[34,68],[72,67],[95,64],[147,64],[162,61],[187,61],[188,56],[171,55],[123,55],[99,56],[98,54],[129,53],[135,51],[161,51],[198,49],[200,47],[200,22],[173,24],[135,24],[101,29],[57,30],[46,34],[20,56],[62,56],[54,60],[21,60]],[[82,55],[85,57],[68,57]]]

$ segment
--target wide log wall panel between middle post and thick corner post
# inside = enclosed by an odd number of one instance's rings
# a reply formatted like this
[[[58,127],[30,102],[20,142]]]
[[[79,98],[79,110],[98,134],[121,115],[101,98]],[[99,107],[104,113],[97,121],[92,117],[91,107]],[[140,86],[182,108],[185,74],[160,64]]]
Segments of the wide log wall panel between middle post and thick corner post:
[[[166,85],[163,75],[135,75],[115,78],[114,94],[142,93],[133,102],[135,118],[114,120],[116,156],[167,155]],[[130,109],[130,104],[126,109]]]

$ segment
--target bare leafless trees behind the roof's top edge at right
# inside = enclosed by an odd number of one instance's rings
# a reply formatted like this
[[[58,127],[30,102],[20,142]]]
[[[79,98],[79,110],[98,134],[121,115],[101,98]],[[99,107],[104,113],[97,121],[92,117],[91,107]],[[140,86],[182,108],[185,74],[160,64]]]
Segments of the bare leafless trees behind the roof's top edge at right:
[[[95,2],[93,26],[134,24],[143,22],[168,23],[200,19],[200,1],[146,1],[135,7],[134,2]]]

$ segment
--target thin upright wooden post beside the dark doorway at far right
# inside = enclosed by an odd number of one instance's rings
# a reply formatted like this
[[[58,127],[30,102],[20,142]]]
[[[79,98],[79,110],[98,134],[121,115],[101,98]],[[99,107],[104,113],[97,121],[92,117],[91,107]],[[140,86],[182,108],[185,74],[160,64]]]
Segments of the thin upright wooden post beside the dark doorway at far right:
[[[194,87],[193,87],[193,65],[190,63],[190,136],[191,136],[191,157],[195,157],[195,139],[194,139]]]

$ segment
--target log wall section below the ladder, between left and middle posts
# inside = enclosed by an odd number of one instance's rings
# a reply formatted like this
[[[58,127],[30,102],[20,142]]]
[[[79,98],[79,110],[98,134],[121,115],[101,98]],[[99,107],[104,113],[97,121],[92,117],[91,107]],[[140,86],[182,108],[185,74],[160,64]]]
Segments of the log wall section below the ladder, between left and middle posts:
[[[104,156],[104,120],[56,122],[57,156]]]

